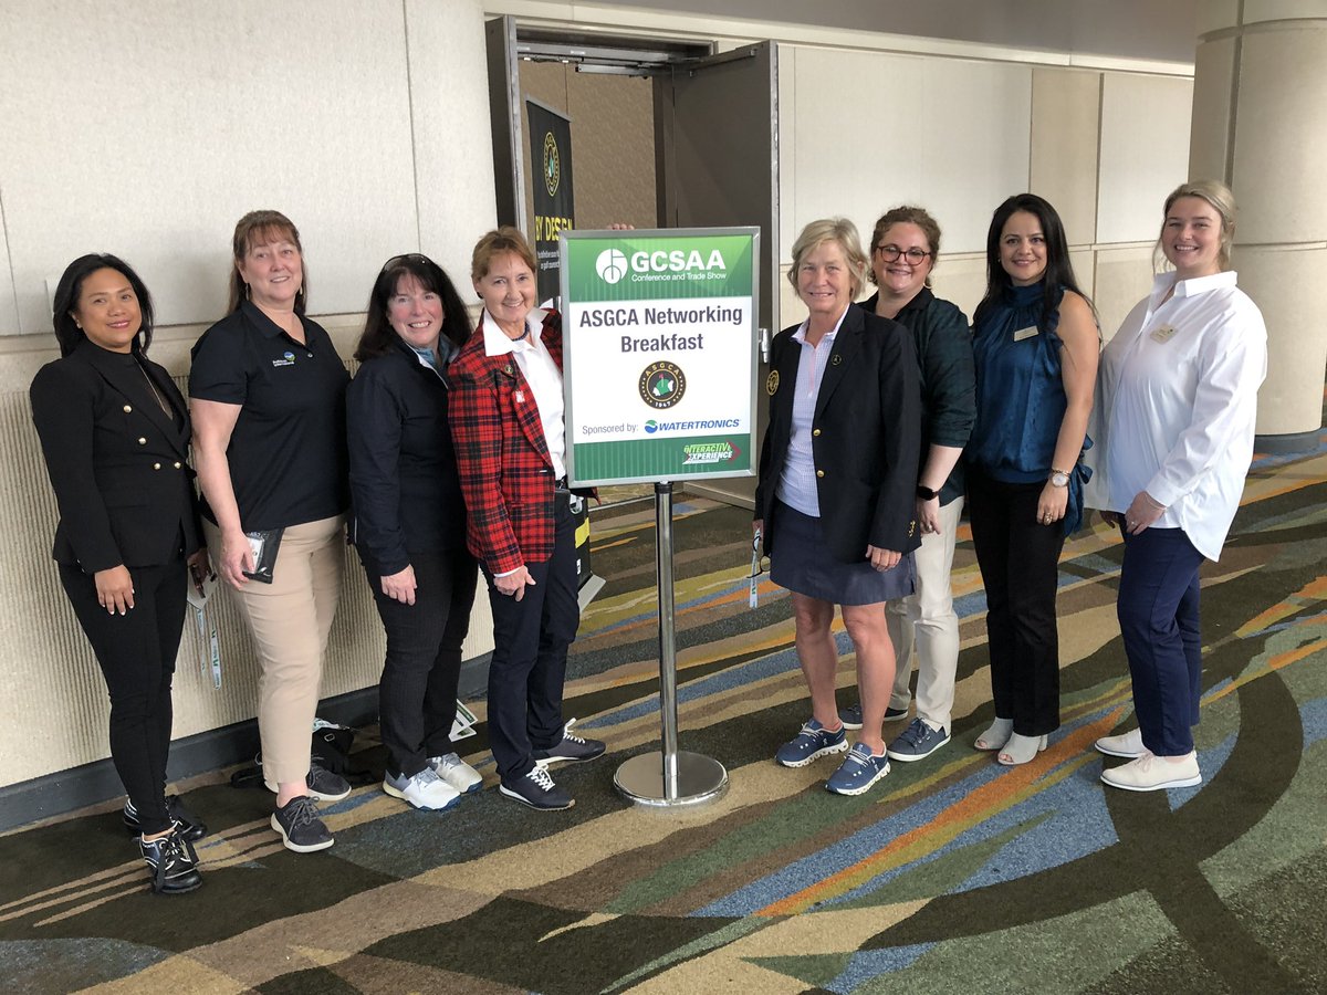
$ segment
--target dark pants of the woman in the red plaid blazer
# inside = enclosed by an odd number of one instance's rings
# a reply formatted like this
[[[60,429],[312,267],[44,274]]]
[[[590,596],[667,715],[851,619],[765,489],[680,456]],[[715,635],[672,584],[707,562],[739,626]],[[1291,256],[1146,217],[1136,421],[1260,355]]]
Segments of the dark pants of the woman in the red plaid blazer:
[[[488,746],[498,775],[511,781],[535,767],[532,750],[563,739],[563,682],[567,647],[580,628],[576,589],[576,519],[569,495],[557,492],[553,553],[527,563],[535,586],[520,601],[488,580],[494,613],[494,657],[488,666]]]

